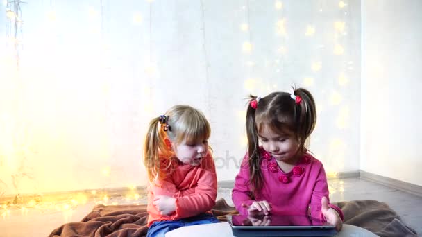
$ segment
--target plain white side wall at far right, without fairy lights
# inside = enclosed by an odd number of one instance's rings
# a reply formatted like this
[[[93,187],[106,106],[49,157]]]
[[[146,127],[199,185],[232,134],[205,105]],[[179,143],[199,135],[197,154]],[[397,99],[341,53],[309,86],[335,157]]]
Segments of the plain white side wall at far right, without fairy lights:
[[[422,185],[422,1],[362,1],[362,170]]]

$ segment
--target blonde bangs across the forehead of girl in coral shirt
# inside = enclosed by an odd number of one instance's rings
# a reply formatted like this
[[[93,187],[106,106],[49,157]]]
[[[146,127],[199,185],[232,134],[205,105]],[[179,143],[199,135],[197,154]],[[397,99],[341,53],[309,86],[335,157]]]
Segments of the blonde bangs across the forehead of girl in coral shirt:
[[[178,144],[183,141],[186,143],[202,143],[211,134],[208,121],[202,114],[196,112],[183,113],[176,128],[176,143]]]

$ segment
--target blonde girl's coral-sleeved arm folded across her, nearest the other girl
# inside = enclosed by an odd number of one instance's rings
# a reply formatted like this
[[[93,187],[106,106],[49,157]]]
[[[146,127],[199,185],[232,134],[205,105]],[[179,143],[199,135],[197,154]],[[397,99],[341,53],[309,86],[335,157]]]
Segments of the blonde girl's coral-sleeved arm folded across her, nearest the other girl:
[[[187,218],[196,216],[199,213],[210,211],[214,207],[217,198],[217,174],[215,171],[214,160],[211,155],[205,157],[205,162],[201,164],[201,175],[198,179],[197,186],[189,188],[184,193],[187,194],[176,198],[176,216],[178,218]]]

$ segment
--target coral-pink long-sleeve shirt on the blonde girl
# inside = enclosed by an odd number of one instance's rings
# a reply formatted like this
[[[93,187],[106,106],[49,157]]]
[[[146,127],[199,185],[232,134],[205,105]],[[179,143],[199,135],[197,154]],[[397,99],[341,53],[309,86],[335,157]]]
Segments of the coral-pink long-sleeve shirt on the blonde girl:
[[[167,162],[165,159],[163,161]],[[166,166],[167,164],[162,164],[161,167]],[[167,177],[148,188],[148,226],[157,220],[178,220],[196,216],[214,207],[217,198],[217,175],[210,152],[199,166],[172,161],[164,172],[167,172]],[[153,200],[158,195],[176,198],[176,211],[170,216],[161,215],[154,206]]]

